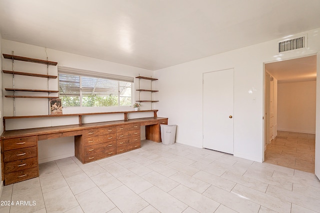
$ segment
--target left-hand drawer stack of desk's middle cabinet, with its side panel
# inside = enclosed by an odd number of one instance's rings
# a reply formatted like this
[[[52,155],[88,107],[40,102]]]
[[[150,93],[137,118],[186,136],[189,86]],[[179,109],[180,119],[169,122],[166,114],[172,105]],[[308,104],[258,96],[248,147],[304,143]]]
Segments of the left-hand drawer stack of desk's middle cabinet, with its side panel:
[[[74,137],[74,155],[82,164],[115,154],[115,126],[86,129]]]

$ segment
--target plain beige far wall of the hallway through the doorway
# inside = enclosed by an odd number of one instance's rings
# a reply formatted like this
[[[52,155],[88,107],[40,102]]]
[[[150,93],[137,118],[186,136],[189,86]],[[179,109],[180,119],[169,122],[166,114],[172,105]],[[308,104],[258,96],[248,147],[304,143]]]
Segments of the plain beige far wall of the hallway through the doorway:
[[[278,130],[315,134],[316,81],[278,84]]]

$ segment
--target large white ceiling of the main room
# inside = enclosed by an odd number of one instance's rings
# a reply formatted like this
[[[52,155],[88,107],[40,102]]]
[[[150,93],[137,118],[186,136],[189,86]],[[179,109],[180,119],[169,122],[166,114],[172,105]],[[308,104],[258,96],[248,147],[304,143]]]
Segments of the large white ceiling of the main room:
[[[320,27],[320,0],[0,0],[3,39],[158,70]]]

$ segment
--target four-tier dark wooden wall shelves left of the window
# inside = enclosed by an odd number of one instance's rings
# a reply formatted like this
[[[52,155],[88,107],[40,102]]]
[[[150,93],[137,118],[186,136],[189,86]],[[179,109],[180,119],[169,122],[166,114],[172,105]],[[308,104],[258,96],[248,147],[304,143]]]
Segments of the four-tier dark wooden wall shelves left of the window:
[[[11,59],[12,60],[12,71],[10,70],[2,70],[5,74],[11,74],[12,75],[12,88],[4,88],[5,91],[12,91],[12,95],[5,95],[6,98],[13,98],[13,116],[15,116],[15,98],[58,98],[58,96],[49,96],[50,93],[58,93],[58,90],[49,90],[49,79],[55,79],[57,76],[55,75],[49,75],[48,74],[48,66],[56,66],[57,62],[54,61],[48,61],[48,60],[42,60],[42,59],[36,59],[36,58],[28,58],[23,56],[17,56],[14,55],[14,52],[12,51],[12,54],[2,54],[4,58]],[[46,65],[46,74],[37,74],[37,73],[28,73],[28,72],[17,72],[14,70],[14,60],[19,61],[26,61],[31,63],[39,63],[39,64],[45,64]],[[31,76],[31,77],[40,77],[40,78],[47,78],[47,89],[24,89],[24,88],[15,88],[15,82],[14,82],[14,76],[15,75],[24,75],[24,76]],[[44,92],[48,93],[47,96],[24,96],[24,95],[15,95],[15,92]],[[49,107],[49,106],[48,106]],[[48,108],[48,114],[49,114],[49,108]]]

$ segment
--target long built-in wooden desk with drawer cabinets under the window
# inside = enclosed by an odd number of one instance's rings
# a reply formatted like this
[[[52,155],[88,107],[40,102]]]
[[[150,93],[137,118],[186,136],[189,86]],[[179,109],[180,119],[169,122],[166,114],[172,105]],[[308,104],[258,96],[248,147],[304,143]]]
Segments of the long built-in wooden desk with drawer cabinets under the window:
[[[74,155],[84,164],[140,148],[140,126],[145,126],[147,140],[161,142],[160,124],[167,124],[167,118],[79,122],[76,125],[4,131],[1,135],[2,181],[9,185],[39,176],[37,141],[74,136]]]

